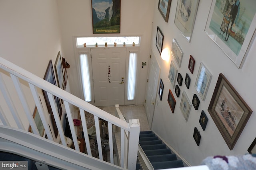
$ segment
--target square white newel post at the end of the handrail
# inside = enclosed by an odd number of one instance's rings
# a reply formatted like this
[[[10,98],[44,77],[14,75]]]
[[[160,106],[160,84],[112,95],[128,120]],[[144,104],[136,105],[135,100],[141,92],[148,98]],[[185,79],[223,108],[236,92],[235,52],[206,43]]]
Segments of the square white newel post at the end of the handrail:
[[[130,119],[130,133],[128,143],[128,170],[136,169],[139,136],[140,136],[140,122],[139,119]]]

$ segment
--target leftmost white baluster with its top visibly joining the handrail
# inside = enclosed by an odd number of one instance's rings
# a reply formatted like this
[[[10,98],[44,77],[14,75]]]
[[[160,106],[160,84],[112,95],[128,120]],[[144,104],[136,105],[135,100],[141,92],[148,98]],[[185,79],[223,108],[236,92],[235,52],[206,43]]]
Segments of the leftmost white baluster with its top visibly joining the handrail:
[[[20,98],[20,102],[24,108],[24,111],[26,113],[26,116],[28,118],[28,121],[30,123],[31,129],[33,131],[34,134],[40,136],[40,133],[36,127],[36,123],[34,121],[33,115],[30,112],[30,109],[28,107],[28,102],[26,100],[26,98],[24,97],[24,92],[20,86],[20,81],[18,79],[18,77],[14,76],[13,74],[10,74],[11,78],[12,78],[12,82],[14,84],[14,87],[16,88],[16,91],[18,93],[18,96]]]

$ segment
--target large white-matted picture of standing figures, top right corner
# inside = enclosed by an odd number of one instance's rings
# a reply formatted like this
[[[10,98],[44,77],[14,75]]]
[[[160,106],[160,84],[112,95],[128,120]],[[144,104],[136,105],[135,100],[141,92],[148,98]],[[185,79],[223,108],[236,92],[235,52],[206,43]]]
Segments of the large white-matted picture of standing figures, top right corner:
[[[256,1],[212,0],[205,32],[241,68],[256,29]]]

